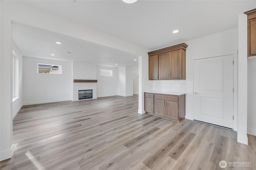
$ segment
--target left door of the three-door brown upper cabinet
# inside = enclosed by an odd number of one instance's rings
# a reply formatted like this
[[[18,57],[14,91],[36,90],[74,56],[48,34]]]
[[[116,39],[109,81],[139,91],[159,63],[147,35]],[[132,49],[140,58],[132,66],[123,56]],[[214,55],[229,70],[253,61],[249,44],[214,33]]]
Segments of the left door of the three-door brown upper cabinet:
[[[158,55],[148,57],[148,79],[158,79]]]

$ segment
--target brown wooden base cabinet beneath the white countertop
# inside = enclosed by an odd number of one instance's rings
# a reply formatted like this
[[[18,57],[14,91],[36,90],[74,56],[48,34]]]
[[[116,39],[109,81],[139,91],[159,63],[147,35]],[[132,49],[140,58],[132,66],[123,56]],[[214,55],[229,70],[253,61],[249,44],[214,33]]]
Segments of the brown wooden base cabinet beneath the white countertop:
[[[185,94],[169,95],[169,94],[154,94],[146,96],[145,93],[145,111],[148,114],[156,115],[173,121],[182,121],[185,118]],[[152,97],[154,103],[152,103]],[[152,104],[150,107],[149,105]],[[152,110],[153,108],[153,110]]]

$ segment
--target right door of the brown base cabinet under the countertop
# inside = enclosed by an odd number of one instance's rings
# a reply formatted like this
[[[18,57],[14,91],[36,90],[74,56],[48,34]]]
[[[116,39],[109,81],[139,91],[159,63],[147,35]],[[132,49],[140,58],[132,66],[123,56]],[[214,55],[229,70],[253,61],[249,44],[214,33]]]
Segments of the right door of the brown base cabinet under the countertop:
[[[165,101],[165,117],[178,120],[178,102]]]

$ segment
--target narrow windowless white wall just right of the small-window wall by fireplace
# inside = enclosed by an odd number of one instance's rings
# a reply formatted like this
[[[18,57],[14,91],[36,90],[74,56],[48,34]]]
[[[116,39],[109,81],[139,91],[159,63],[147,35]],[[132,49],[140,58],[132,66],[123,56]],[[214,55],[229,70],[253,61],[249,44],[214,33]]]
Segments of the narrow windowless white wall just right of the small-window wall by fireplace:
[[[117,95],[126,96],[126,66],[118,67]]]

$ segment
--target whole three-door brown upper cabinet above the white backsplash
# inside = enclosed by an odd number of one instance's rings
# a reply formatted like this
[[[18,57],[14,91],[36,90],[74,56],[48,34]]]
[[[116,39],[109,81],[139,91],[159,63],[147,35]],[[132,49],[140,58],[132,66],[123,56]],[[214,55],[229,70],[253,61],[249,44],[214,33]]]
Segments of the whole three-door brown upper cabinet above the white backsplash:
[[[185,80],[187,47],[182,43],[149,52],[149,80]]]

